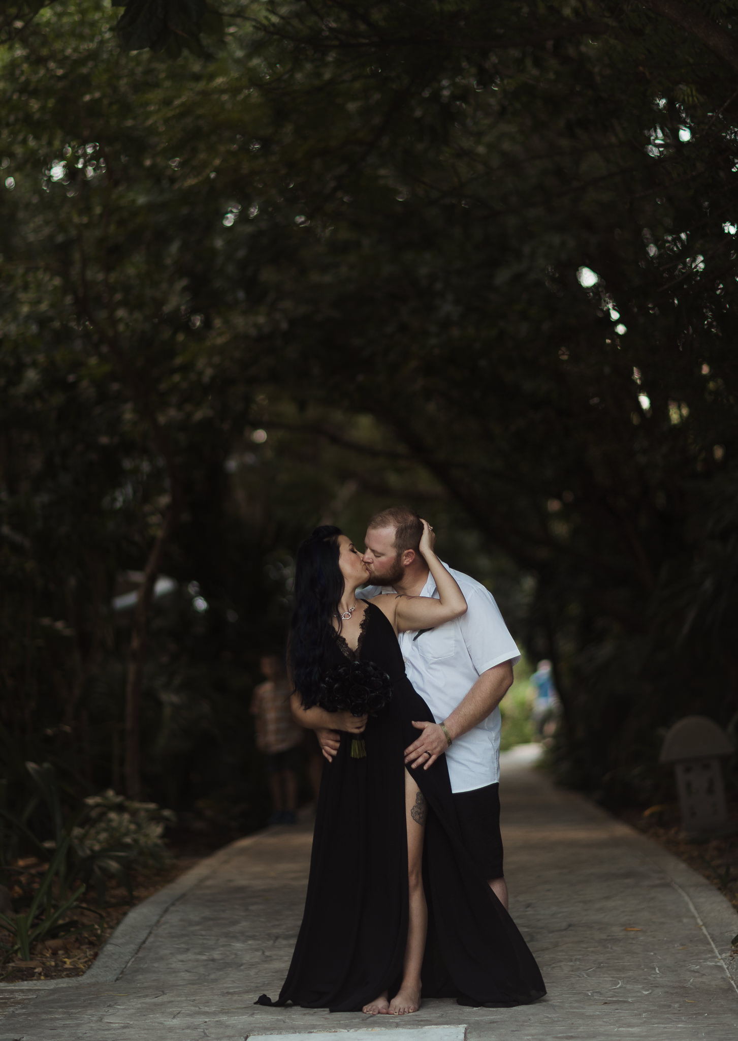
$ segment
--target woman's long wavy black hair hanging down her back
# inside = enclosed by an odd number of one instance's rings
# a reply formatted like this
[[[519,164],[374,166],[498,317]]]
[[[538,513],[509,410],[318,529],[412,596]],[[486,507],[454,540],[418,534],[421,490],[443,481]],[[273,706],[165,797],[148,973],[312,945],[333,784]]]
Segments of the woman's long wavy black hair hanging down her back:
[[[287,664],[306,709],[315,704],[321,677],[326,669],[329,640],[333,639],[332,616],[343,595],[343,576],[338,566],[340,528],[321,525],[297,553],[295,611],[287,640]],[[340,625],[340,619],[339,619]]]

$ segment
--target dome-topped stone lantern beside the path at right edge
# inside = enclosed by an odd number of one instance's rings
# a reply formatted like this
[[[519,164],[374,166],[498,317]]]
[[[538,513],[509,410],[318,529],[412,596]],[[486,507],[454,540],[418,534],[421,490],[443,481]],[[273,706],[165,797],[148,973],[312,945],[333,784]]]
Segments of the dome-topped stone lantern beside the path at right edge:
[[[659,762],[675,764],[687,838],[724,827],[726,791],[719,758],[733,752],[728,735],[707,716],[685,716],[666,734]]]

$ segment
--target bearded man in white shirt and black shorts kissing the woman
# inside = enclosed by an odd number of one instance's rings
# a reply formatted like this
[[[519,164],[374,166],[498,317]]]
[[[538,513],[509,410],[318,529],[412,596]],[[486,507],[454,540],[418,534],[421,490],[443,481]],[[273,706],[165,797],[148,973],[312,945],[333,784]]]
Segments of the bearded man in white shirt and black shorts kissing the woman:
[[[360,595],[435,596],[435,582],[417,549],[422,534],[421,518],[406,507],[372,517],[363,560],[374,585]],[[449,570],[466,598],[466,613],[436,629],[400,634],[408,679],[433,713],[433,721],[413,723],[421,733],[406,748],[405,763],[411,769],[428,769],[446,755],[465,845],[507,907],[498,706],[512,684],[512,666],[520,655],[491,593],[467,575]],[[335,735],[321,731],[319,739],[330,757]]]

